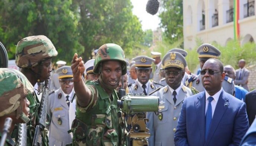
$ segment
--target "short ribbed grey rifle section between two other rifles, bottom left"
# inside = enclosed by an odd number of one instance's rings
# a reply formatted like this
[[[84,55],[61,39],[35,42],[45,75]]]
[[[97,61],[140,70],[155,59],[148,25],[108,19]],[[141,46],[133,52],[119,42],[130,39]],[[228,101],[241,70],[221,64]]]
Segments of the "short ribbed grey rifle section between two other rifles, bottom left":
[[[27,124],[19,124],[18,126],[18,139],[16,142],[17,146],[27,145]]]

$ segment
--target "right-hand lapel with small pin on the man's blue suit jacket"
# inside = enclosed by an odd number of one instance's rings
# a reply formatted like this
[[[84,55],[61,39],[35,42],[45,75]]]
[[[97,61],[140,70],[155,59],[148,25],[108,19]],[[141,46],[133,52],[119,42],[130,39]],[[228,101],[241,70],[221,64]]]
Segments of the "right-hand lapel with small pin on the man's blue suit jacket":
[[[227,96],[225,96],[225,93],[222,91],[218,99],[218,102],[214,111],[214,115],[212,117],[211,126],[208,134],[209,138],[207,138],[207,141],[205,144],[207,144],[211,140],[211,137],[214,134],[215,130],[217,129],[221,118],[223,117],[224,113],[228,108],[228,105],[229,105],[228,98]]]

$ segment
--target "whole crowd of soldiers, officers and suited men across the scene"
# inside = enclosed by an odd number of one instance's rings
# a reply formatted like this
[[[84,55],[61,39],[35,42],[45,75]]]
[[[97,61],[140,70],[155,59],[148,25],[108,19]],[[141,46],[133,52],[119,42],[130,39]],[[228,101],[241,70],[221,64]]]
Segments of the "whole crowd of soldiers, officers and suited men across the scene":
[[[183,49],[171,49],[163,59],[151,52],[128,62],[121,46],[108,43],[96,50],[95,59],[84,62],[75,53],[71,66],[59,60],[53,72],[52,58],[58,53],[51,40],[26,37],[16,47],[20,70],[0,69],[0,136],[11,117],[8,146],[22,145],[21,123],[27,125],[27,146],[34,145],[38,126],[42,138],[36,142],[43,146],[256,145],[256,91],[249,92],[246,61],[239,60],[237,70],[224,66],[220,50],[211,44],[202,44],[197,53],[200,72],[192,74]],[[143,113],[150,133],[143,142],[129,139],[133,127],[118,106],[119,89],[130,96],[159,98],[158,111]]]

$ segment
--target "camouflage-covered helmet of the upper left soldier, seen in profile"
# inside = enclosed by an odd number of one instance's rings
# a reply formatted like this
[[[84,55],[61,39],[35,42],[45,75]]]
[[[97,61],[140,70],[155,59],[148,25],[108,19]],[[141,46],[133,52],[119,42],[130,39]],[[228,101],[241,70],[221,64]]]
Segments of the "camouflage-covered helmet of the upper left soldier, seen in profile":
[[[57,56],[51,40],[46,36],[29,36],[20,40],[16,47],[15,63],[20,68],[31,68],[46,59]]]

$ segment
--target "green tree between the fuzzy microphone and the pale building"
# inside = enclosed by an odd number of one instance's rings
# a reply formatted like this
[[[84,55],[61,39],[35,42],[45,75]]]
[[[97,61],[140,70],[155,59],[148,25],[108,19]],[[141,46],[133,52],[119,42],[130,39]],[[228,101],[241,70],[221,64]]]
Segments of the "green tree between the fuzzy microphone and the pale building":
[[[183,38],[183,2],[182,0],[162,0],[160,26],[164,29],[164,38],[174,43]]]

